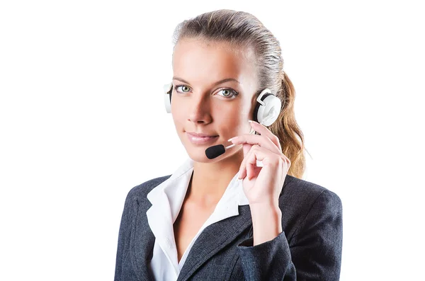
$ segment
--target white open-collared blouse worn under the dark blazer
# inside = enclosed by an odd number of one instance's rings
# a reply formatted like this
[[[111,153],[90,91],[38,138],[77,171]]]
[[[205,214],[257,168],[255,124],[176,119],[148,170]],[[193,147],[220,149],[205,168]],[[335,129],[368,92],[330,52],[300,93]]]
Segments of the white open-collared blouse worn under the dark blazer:
[[[230,180],[229,185],[217,203],[214,212],[200,227],[198,234],[193,237],[188,248],[178,262],[176,240],[174,239],[173,224],[179,216],[184,197],[193,172],[193,160],[188,158],[169,179],[165,180],[147,194],[152,207],[147,210],[147,221],[155,236],[152,260],[149,266],[155,280],[175,281],[191,251],[193,243],[205,229],[215,222],[239,214],[239,205],[248,205],[242,180],[237,180],[237,174]]]

